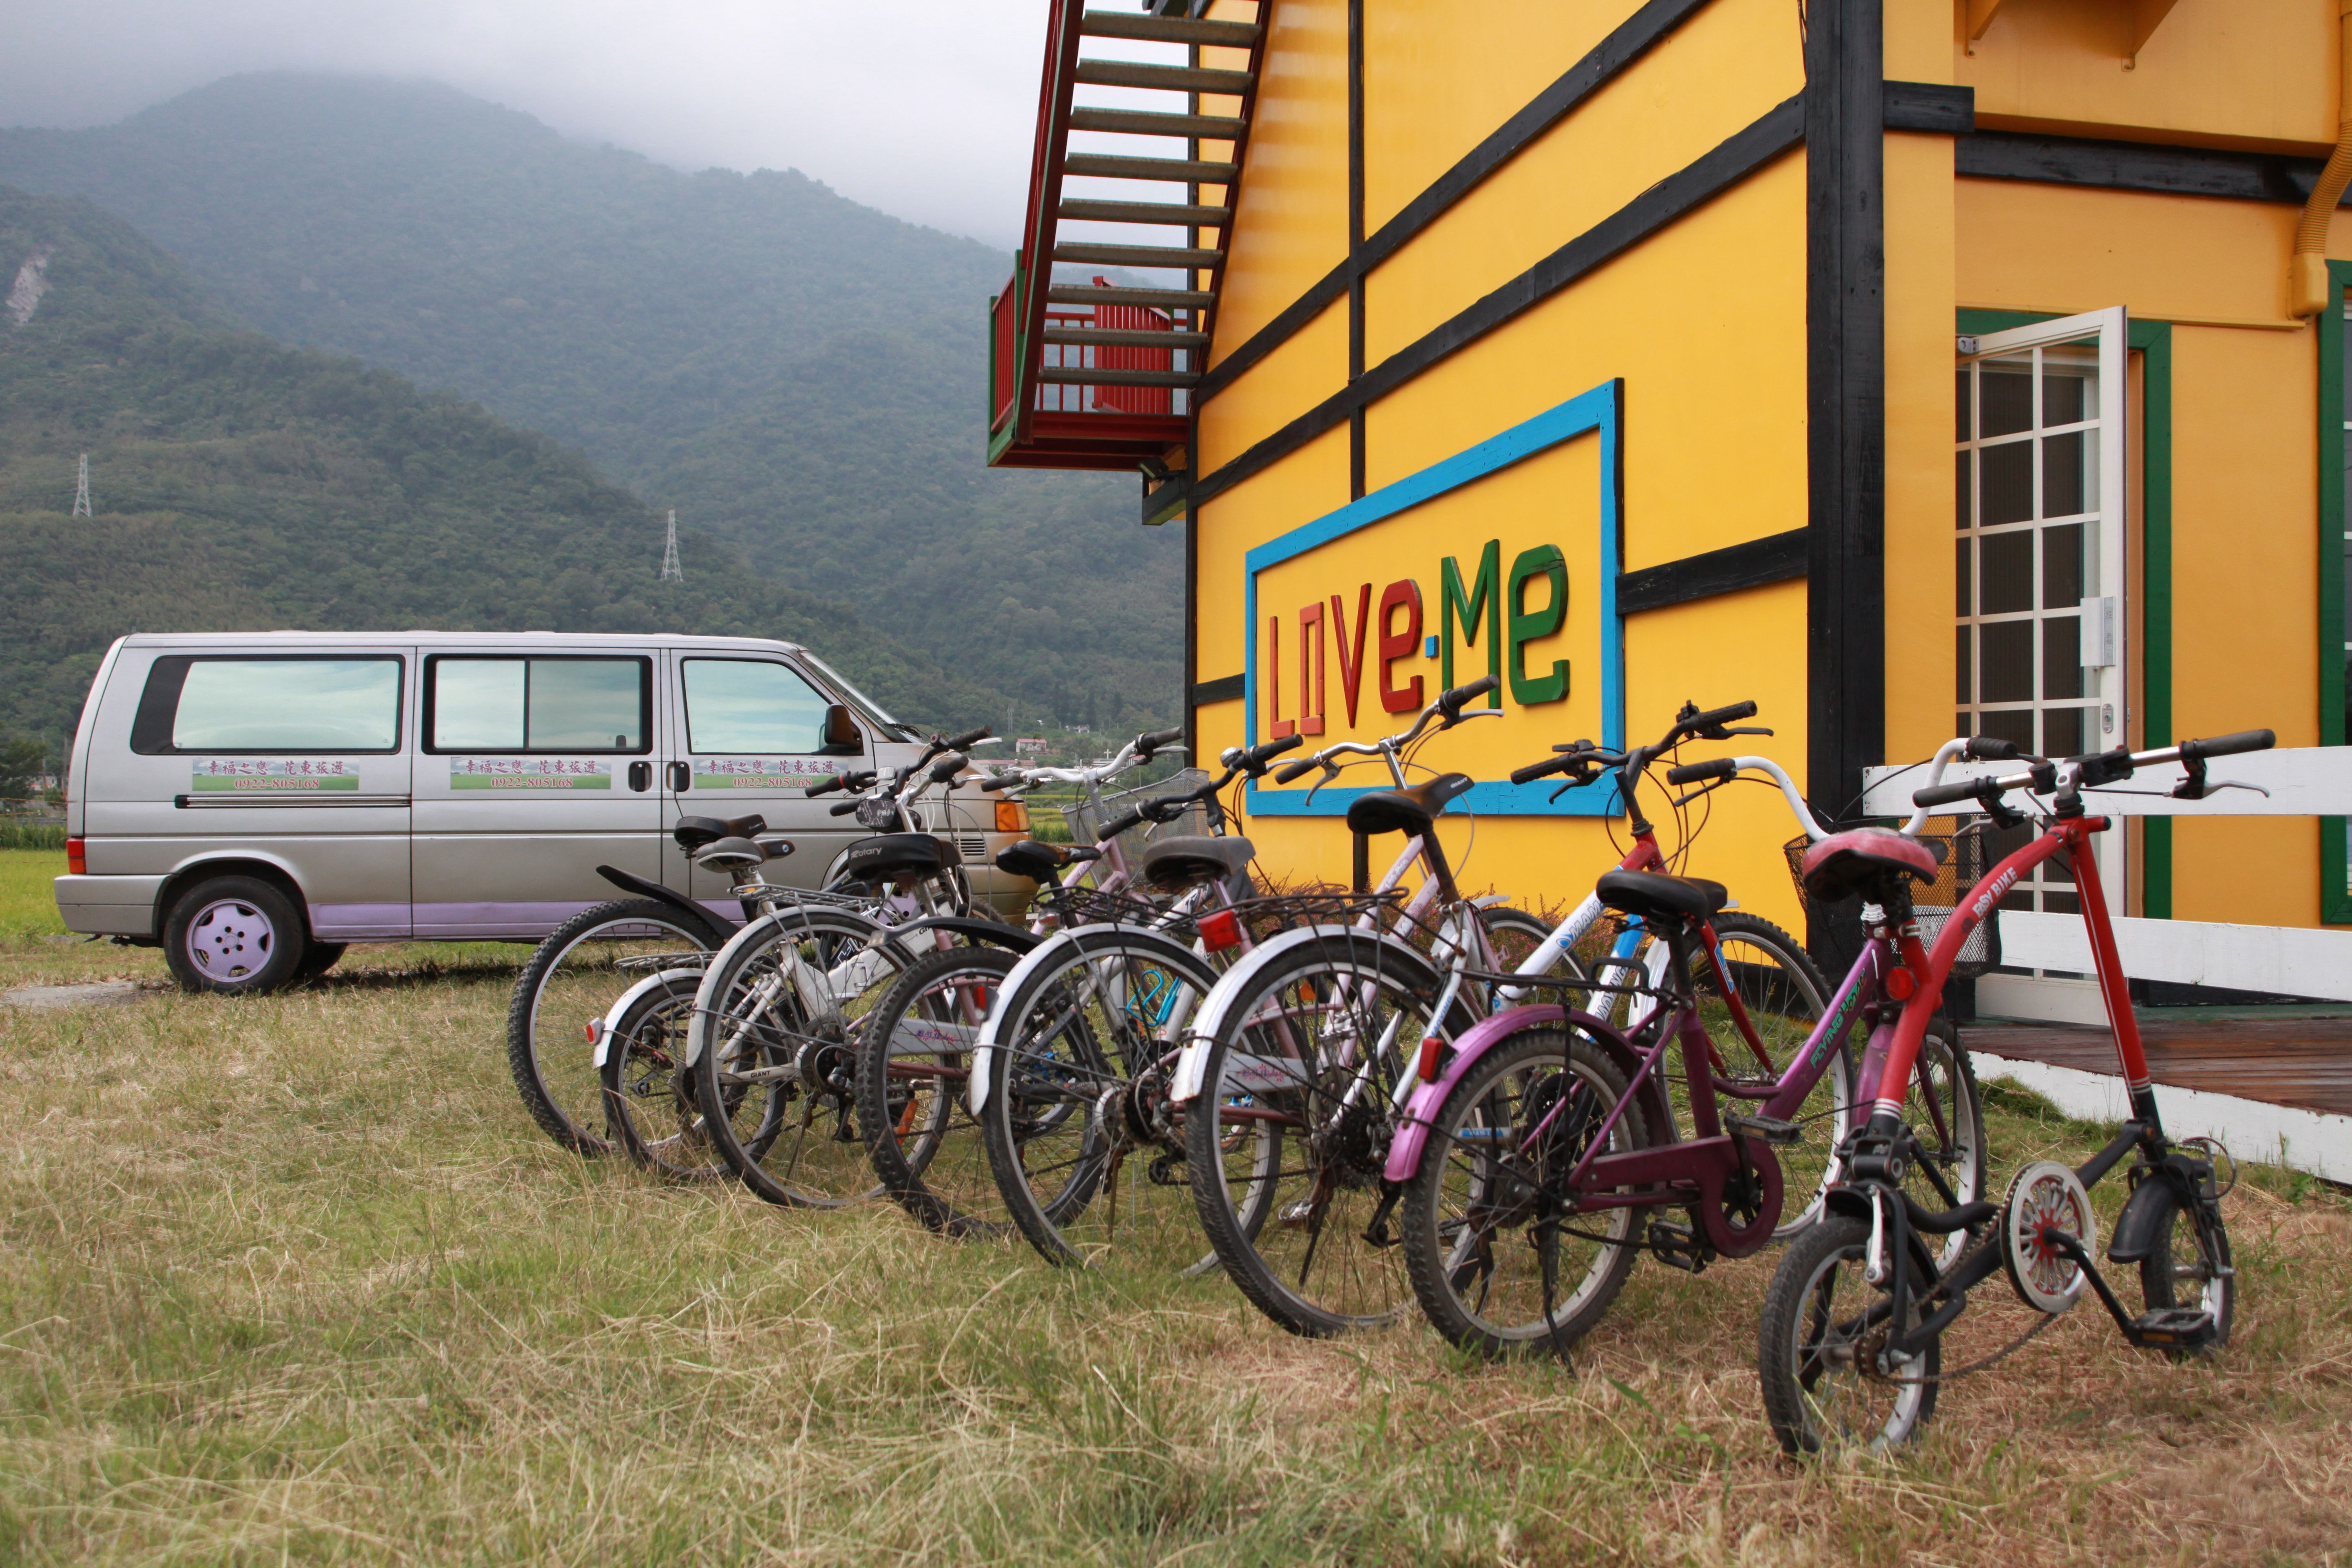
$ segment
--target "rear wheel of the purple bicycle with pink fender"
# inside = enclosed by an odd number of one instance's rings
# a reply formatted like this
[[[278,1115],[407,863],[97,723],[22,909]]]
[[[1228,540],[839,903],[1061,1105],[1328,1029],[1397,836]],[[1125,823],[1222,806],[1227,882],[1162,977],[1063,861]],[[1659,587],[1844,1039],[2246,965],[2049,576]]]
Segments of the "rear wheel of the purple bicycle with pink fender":
[[[1444,1098],[1397,1213],[1414,1295],[1437,1333],[1486,1356],[1566,1352],[1625,1286],[1639,1208],[1566,1208],[1625,1074],[1585,1034],[1522,1030]],[[1609,1154],[1646,1147],[1639,1105]]]

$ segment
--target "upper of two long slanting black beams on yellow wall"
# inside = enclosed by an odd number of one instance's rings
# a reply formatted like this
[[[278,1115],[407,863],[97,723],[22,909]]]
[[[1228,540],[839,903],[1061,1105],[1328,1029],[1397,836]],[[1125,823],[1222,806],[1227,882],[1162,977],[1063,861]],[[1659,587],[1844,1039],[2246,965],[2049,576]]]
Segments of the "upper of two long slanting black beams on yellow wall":
[[[1581,61],[1569,66],[1557,82],[1529,99],[1529,103],[1505,120],[1491,136],[1463,153],[1461,162],[1439,174],[1428,190],[1406,202],[1397,216],[1381,223],[1378,233],[1364,240],[1357,254],[1324,273],[1315,287],[1284,306],[1275,320],[1258,327],[1240,348],[1211,364],[1209,374],[1202,376],[1200,386],[1192,390],[1192,400],[1209,402],[1232,386],[1232,381],[1251,364],[1282,348],[1284,341],[1322,315],[1327,306],[1345,296],[1357,277],[1371,273],[1376,266],[1404,249],[1414,235],[1444,216],[1458,200],[1477,190],[1486,176],[1524,153],[1529,143],[1559,125],[1578,103],[1606,87],[1613,75],[1649,54],[1661,38],[1672,33],[1705,5],[1708,0],[1649,0],[1649,5],[1639,12],[1621,21],[1609,38],[1592,45],[1592,49]]]

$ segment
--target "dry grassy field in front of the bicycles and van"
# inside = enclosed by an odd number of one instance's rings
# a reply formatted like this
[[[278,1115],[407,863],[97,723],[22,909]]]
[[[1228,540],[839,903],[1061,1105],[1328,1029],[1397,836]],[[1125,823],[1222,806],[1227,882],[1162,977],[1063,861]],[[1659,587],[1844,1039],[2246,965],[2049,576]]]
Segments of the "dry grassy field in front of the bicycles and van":
[[[5,1563],[2352,1563],[2352,1206],[2251,1168],[2237,1340],[2084,1309],[1900,1462],[1759,1418],[1771,1258],[1644,1262],[1573,1371],[1294,1340],[1174,1227],[1103,1269],[564,1154],[506,1077],[520,947],[266,1001],[40,940],[0,856]],[[1999,1168],[2093,1133],[1997,1095]],[[2025,1324],[1987,1286],[1947,1366]]]

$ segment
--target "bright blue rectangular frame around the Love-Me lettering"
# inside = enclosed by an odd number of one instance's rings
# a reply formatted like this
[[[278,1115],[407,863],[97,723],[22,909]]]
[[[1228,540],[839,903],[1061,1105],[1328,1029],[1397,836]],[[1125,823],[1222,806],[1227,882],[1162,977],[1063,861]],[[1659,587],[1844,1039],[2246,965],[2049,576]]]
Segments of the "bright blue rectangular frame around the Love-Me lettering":
[[[1242,625],[1247,628],[1247,663],[1242,665],[1244,684],[1244,708],[1242,708],[1242,743],[1258,743],[1258,574],[1268,567],[1279,567],[1287,559],[1305,555],[1308,550],[1319,550],[1334,538],[1345,538],[1357,529],[1369,529],[1376,522],[1388,522],[1390,517],[1406,512],[1423,501],[1435,501],[1446,491],[1461,489],[1472,480],[1484,480],[1491,473],[1510,468],[1522,458],[1531,458],[1538,451],[1550,451],[1552,447],[1576,440],[1588,430],[1599,430],[1602,437],[1602,527],[1599,527],[1599,607],[1602,607],[1602,745],[1609,750],[1621,750],[1625,745],[1625,618],[1616,607],[1616,576],[1618,576],[1618,538],[1623,529],[1623,501],[1625,501],[1625,454],[1623,454],[1623,428],[1625,428],[1625,381],[1611,378],[1602,381],[1590,393],[1578,393],[1555,409],[1545,409],[1534,418],[1491,435],[1477,447],[1456,451],[1454,456],[1430,463],[1416,475],[1397,480],[1395,484],[1383,484],[1362,501],[1350,501],[1348,505],[1317,517],[1315,522],[1303,522],[1279,538],[1270,538],[1249,555],[1242,557]],[[1439,604],[1439,616],[1444,607]],[[1367,665],[1371,663],[1371,649],[1367,646]],[[1369,672],[1369,670],[1367,670]],[[1402,717],[1402,715],[1399,715]],[[1559,736],[1566,741],[1569,736]],[[1536,757],[1529,757],[1536,762]],[[1317,790],[1312,804],[1308,802],[1308,790],[1268,790],[1256,783],[1249,785],[1247,811],[1251,816],[1345,816],[1348,802],[1359,795],[1369,795],[1376,788],[1329,788]],[[1616,816],[1616,788],[1595,783],[1583,790],[1569,790],[1559,799],[1550,795],[1559,788],[1557,778],[1543,778],[1531,785],[1515,785],[1503,780],[1482,780],[1468,795],[1461,797],[1465,811],[1477,811],[1486,816]]]

